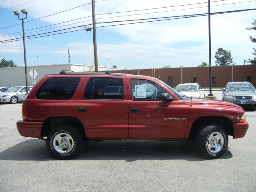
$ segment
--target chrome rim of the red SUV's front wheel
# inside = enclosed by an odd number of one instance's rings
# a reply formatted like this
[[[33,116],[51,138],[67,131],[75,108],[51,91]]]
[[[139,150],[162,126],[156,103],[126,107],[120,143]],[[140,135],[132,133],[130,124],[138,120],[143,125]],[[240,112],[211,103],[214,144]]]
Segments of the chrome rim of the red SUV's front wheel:
[[[212,153],[218,153],[224,145],[224,137],[219,132],[212,133],[207,141],[208,150]]]

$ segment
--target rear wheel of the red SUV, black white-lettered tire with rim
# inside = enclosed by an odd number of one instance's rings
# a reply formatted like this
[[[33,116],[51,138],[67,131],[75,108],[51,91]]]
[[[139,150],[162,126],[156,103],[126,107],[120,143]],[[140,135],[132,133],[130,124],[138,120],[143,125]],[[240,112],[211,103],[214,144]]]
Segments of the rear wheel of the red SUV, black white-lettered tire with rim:
[[[58,159],[70,159],[82,148],[82,136],[75,126],[59,125],[50,130],[46,146],[52,156]]]

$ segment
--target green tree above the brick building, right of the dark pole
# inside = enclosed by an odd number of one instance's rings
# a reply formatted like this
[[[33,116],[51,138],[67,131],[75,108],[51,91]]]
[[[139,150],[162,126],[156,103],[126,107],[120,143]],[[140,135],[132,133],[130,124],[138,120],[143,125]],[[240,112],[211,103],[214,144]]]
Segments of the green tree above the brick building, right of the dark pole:
[[[218,64],[219,66],[235,64],[233,62],[233,58],[231,58],[231,52],[224,50],[223,48],[218,48],[214,58],[216,58],[215,63]]]

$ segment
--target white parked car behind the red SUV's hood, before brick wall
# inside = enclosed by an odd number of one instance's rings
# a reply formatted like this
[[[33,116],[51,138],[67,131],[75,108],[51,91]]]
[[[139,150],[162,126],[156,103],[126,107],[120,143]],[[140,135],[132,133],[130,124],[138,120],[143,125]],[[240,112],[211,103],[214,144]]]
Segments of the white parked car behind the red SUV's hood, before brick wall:
[[[186,95],[188,97],[205,98],[204,90],[200,87],[198,83],[178,84],[175,90],[180,92],[180,94]]]

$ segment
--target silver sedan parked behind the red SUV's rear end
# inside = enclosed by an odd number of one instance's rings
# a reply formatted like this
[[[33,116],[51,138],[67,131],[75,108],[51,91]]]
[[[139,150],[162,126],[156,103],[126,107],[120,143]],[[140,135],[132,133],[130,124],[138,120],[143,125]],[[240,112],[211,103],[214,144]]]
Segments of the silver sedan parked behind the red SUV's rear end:
[[[28,86],[28,92],[32,89],[31,86]],[[23,101],[24,96],[27,94],[26,86],[16,86],[10,88],[6,92],[0,93],[0,103],[11,103],[15,104],[18,101]]]

